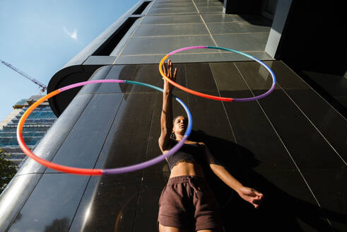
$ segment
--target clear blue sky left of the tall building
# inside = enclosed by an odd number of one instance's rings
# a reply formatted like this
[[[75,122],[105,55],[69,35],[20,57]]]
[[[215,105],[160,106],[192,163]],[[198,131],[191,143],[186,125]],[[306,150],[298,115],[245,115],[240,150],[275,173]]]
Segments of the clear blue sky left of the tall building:
[[[0,0],[0,59],[49,79],[139,0]],[[20,99],[40,92],[0,63],[0,122]]]

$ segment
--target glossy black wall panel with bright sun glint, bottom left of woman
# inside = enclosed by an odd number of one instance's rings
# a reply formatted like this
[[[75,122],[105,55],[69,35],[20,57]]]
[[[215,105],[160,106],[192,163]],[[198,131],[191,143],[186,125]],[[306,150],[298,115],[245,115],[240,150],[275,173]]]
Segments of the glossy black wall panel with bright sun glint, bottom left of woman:
[[[93,177],[70,231],[132,231],[141,173]]]

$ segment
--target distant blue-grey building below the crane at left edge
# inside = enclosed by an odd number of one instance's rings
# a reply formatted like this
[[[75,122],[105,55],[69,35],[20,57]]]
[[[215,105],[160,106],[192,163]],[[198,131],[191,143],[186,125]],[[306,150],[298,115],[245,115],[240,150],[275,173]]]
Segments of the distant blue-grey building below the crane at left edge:
[[[0,147],[11,154],[9,160],[16,163],[17,166],[20,166],[27,157],[18,145],[17,124],[30,105],[41,97],[33,95],[28,99],[19,100],[13,105],[13,112],[0,122]],[[55,120],[57,120],[57,116],[52,112],[47,100],[30,114],[23,128],[23,139],[29,149],[35,148]]]

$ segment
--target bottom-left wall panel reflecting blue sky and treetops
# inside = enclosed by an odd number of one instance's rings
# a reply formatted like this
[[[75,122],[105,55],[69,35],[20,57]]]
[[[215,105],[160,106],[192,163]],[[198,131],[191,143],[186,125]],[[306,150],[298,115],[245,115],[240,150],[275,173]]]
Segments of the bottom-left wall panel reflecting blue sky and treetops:
[[[45,174],[8,231],[68,231],[88,176]]]

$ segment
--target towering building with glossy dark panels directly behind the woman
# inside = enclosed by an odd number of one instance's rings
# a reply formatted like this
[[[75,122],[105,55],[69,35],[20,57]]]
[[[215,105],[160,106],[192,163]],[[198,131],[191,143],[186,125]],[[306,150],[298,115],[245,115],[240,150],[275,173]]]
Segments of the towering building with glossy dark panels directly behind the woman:
[[[175,88],[203,141],[243,185],[263,192],[256,210],[206,170],[224,231],[346,231],[346,28],[342,1],[139,1],[49,81],[121,79],[163,86],[158,64],[181,47],[227,47],[276,74],[273,93],[233,103]],[[249,98],[272,85],[247,57],[199,49],[170,57],[177,83]],[[344,90],[344,91],[343,91]],[[76,168],[131,166],[160,156],[162,96],[102,83],[49,99],[58,119],[34,153]],[[174,103],[175,115],[184,110]],[[119,175],[61,173],[28,159],[0,196],[0,231],[157,231],[165,161]]]

